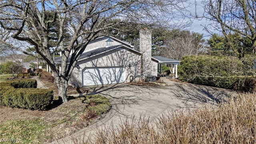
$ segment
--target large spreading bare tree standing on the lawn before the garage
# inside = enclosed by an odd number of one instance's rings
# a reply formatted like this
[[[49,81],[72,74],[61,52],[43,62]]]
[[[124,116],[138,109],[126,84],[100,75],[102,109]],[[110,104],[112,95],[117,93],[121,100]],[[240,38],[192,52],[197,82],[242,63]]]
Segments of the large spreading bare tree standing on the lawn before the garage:
[[[4,0],[0,4],[0,24],[12,31],[12,38],[35,46],[36,52],[51,67],[59,100],[66,103],[68,80],[76,62],[91,40],[105,30],[130,22],[155,24],[181,24],[175,18],[188,14],[184,2],[187,0]],[[54,16],[46,20],[46,12]],[[114,19],[119,19],[114,21]],[[68,26],[66,23],[68,22]],[[50,28],[58,23],[57,46],[62,53],[61,72],[58,72],[48,44]],[[179,25],[180,26],[180,25]],[[64,31],[71,38],[64,42]],[[74,47],[76,45],[76,47]],[[67,64],[70,51],[71,61]]]

